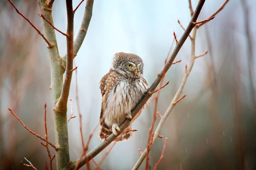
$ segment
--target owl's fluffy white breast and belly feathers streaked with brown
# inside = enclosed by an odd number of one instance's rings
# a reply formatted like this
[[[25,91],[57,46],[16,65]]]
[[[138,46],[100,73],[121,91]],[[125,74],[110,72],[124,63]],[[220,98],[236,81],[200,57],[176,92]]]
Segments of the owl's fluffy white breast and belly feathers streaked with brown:
[[[143,77],[139,79],[109,79],[105,85],[106,93],[102,96],[102,109],[106,125],[120,125],[125,120],[125,113],[131,111],[148,90]]]

